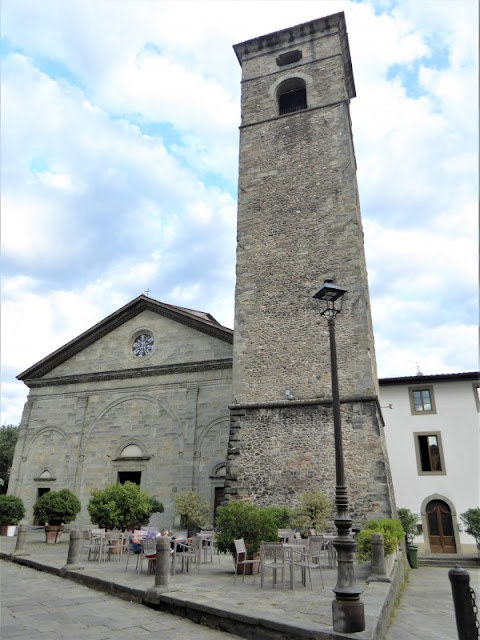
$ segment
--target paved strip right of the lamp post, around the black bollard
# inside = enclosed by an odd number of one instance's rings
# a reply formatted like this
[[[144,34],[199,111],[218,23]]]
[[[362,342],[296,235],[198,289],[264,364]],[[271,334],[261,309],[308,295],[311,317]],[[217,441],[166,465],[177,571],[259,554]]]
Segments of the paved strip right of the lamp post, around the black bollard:
[[[452,588],[444,567],[409,571],[386,640],[457,640]],[[470,586],[480,598],[480,569],[469,568]]]

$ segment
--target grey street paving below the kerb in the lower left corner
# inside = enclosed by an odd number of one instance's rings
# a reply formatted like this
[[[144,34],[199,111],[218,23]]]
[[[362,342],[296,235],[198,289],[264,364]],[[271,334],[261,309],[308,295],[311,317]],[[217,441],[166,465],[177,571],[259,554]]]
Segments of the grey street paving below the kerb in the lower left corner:
[[[0,571],[2,640],[238,640],[13,562]]]

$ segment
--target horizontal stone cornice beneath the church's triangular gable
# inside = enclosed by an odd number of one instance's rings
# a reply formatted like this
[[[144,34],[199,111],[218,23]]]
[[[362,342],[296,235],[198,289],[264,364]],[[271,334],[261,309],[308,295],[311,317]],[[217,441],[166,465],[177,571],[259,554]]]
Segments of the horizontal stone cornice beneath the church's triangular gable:
[[[183,373],[197,373],[215,369],[231,369],[232,359],[191,362],[187,364],[169,364],[143,369],[123,369],[120,371],[98,371],[94,373],[79,373],[75,375],[59,376],[56,378],[25,378],[23,382],[32,388],[51,387],[66,384],[82,384],[88,382],[104,382],[108,380],[127,380],[146,378],[151,376],[167,376]]]

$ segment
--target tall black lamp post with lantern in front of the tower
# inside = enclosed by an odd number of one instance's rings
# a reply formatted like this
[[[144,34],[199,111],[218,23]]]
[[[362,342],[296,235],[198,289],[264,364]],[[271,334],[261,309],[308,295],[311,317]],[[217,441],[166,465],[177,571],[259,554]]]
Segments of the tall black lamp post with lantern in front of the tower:
[[[360,601],[361,590],[355,585],[356,542],[352,536],[352,520],[348,513],[347,487],[343,462],[342,423],[340,418],[340,394],[338,391],[337,347],[335,343],[335,318],[341,312],[343,296],[347,290],[333,280],[325,280],[313,296],[323,303],[322,315],[328,318],[330,334],[330,365],[332,370],[333,426],[335,431],[335,526],[337,537],[333,546],[337,552],[337,584],[333,590],[333,630],[338,633],[355,633],[365,629],[365,613]]]

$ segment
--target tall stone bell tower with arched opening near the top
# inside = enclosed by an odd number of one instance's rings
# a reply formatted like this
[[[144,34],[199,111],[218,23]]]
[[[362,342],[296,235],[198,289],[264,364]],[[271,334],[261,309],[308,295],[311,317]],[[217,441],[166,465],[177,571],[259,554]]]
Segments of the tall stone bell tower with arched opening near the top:
[[[234,47],[242,67],[233,405],[227,499],[334,498],[327,323],[313,295],[348,290],[337,321],[354,526],[394,510],[349,103],[343,13]]]

